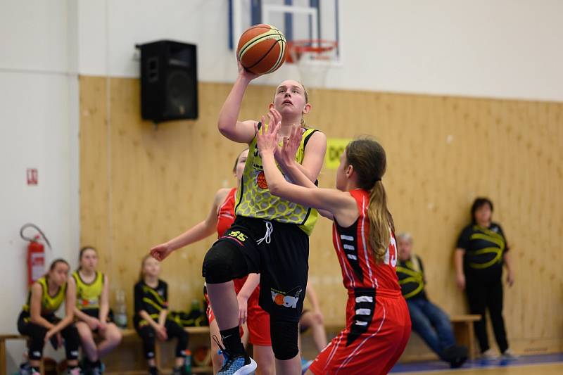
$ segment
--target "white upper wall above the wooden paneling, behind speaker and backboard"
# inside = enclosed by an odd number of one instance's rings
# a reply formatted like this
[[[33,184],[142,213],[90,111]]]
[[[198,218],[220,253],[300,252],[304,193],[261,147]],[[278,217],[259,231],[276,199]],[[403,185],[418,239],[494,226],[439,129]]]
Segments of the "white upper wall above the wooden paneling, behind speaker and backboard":
[[[138,77],[134,44],[198,45],[201,81],[232,82],[227,0],[81,0],[79,70]],[[342,68],[327,87],[563,100],[559,0],[341,0]],[[293,65],[260,78],[296,77]]]

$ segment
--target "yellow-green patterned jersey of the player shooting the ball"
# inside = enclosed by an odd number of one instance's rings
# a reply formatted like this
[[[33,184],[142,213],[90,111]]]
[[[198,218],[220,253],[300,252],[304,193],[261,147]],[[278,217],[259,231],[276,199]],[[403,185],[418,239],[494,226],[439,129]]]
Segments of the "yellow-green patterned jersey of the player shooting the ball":
[[[258,124],[258,127],[260,127],[260,124]],[[301,139],[301,145],[295,157],[297,163],[303,163],[305,146],[314,132],[316,132],[315,129],[303,128],[303,139]],[[319,215],[315,209],[272,196],[267,186],[262,158],[258,153],[256,137],[248,147],[248,158],[246,159],[242,181],[236,192],[235,214],[236,216],[297,224],[308,235],[315,227]]]

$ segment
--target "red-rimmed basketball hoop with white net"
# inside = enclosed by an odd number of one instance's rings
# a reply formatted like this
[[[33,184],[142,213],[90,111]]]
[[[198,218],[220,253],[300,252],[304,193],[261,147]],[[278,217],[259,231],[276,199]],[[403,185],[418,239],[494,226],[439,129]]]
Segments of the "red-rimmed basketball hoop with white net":
[[[337,47],[338,42],[324,39],[288,41],[286,63],[296,64],[306,87],[324,87],[327,71],[337,59]]]

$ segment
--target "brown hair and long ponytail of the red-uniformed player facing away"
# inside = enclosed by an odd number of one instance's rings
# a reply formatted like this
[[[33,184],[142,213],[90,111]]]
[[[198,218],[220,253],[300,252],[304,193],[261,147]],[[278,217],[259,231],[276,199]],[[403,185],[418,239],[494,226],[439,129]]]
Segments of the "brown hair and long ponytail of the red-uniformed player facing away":
[[[361,189],[369,191],[369,245],[381,262],[391,242],[393,217],[387,209],[387,194],[381,182],[387,160],[384,148],[372,139],[357,139],[346,147],[346,160],[352,165]]]

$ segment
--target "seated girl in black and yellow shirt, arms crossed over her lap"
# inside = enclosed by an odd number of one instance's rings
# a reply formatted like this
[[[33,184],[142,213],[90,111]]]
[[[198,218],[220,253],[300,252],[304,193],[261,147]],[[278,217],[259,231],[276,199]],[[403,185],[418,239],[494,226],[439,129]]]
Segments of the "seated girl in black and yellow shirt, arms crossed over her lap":
[[[148,373],[158,374],[154,360],[155,337],[160,341],[177,338],[176,363],[172,375],[184,374],[185,351],[188,346],[188,333],[168,314],[167,284],[158,279],[160,263],[146,255],[141,264],[139,282],[135,284],[135,315],[133,324],[139,336],[143,339],[144,353],[148,362]]]

